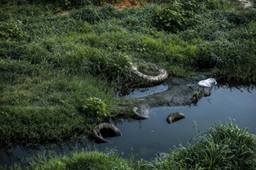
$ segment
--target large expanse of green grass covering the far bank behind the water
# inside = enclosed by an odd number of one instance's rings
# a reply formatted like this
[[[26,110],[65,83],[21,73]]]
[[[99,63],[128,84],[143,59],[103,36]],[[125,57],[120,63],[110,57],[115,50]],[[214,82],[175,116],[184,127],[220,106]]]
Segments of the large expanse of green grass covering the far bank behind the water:
[[[256,11],[238,1],[147,1],[123,10],[77,2],[1,2],[1,147],[74,140],[110,117],[129,117],[130,101],[114,94],[145,84],[132,63],[154,62],[170,76],[204,69],[256,82]],[[73,12],[57,14],[65,9]],[[170,16],[174,26],[161,19]],[[84,118],[88,98],[100,98],[110,116]]]

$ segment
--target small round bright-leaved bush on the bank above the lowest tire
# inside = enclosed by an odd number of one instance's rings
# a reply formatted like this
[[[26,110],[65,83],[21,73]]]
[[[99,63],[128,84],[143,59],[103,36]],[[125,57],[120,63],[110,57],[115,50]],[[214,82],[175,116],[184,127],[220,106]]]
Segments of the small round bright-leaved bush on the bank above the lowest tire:
[[[82,111],[89,116],[107,116],[106,105],[100,98],[88,98],[82,106]]]

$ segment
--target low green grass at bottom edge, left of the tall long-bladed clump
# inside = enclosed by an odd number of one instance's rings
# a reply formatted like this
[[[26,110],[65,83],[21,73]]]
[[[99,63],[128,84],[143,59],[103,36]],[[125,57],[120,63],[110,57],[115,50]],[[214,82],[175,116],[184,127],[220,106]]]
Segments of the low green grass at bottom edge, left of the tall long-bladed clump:
[[[97,151],[87,151],[85,149],[82,152],[72,152],[70,155],[65,155],[64,157],[56,157],[53,155],[47,155],[49,157],[48,161],[46,155],[38,154],[33,157],[35,162],[30,162],[30,166],[26,168],[31,169],[122,169],[122,170],[132,170],[139,169],[140,166],[146,162],[136,163],[134,162],[134,157],[130,159],[122,159],[117,154],[115,149],[106,149],[105,152]],[[36,163],[39,161],[40,163]],[[17,168],[21,168],[18,166]]]

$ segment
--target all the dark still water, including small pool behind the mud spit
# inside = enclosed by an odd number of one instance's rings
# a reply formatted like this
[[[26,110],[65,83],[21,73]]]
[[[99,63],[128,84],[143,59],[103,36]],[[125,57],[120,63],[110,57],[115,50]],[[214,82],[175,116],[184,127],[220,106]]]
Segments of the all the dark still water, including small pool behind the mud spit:
[[[168,89],[166,86],[156,86],[146,91],[134,91],[127,98],[146,96]],[[201,132],[214,125],[234,121],[239,128],[248,128],[248,132],[256,134],[256,89],[255,87],[228,88],[214,86],[212,94],[201,98],[196,106],[158,107],[149,110],[147,120],[124,120],[116,126],[121,130],[122,137],[111,137],[110,142],[95,144],[89,140],[82,140],[77,145],[62,145],[53,147],[57,154],[68,154],[70,151],[79,151],[82,148],[105,151],[106,148],[117,149],[124,158],[134,154],[137,159],[154,159],[154,154],[171,152],[178,144],[186,145],[196,136],[196,128]],[[186,118],[175,123],[167,123],[170,113],[181,112]],[[196,122],[196,128],[194,128]],[[0,164],[11,165],[20,162],[34,154],[48,152],[44,146],[38,149],[25,149],[21,146],[9,150],[0,150]]]

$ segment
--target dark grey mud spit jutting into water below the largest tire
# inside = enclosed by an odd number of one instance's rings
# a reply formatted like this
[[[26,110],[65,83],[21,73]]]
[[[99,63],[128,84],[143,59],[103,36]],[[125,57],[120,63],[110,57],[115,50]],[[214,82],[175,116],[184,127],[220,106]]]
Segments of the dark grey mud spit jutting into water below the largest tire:
[[[161,106],[189,106],[195,95],[194,89],[198,89],[198,81],[212,77],[208,72],[201,72],[191,79],[169,77],[162,84],[168,86],[168,90],[157,94],[151,94],[134,99],[134,113],[149,118],[149,109]],[[216,79],[216,77],[214,77]],[[193,89],[191,89],[191,87]]]

